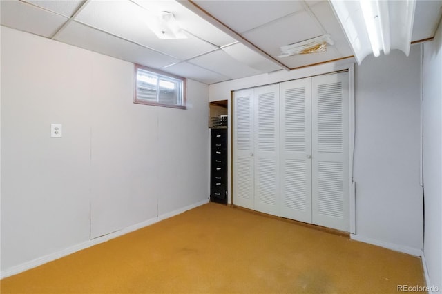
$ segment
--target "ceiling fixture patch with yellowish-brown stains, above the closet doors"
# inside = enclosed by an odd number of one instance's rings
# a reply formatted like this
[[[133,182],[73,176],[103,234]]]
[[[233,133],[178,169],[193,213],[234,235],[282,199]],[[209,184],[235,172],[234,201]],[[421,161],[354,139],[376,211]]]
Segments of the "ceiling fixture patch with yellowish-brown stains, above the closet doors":
[[[332,37],[328,34],[319,37],[314,37],[302,42],[290,44],[287,46],[282,46],[280,48],[282,55],[279,55],[278,57],[282,58],[298,54],[325,52],[327,51],[327,43],[329,43],[329,45],[334,44]]]

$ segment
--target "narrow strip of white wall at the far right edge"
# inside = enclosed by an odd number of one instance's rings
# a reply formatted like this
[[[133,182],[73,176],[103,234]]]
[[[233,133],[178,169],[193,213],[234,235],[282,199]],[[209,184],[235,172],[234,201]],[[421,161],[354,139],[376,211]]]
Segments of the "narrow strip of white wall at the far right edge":
[[[442,26],[423,45],[423,253],[429,286],[442,289]]]

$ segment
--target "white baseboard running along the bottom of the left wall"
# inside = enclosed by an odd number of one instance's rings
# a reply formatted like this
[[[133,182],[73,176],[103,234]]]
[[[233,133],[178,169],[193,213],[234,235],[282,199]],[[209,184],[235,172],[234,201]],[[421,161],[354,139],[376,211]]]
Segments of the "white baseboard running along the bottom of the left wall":
[[[42,264],[46,264],[47,262],[52,262],[55,259],[59,259],[59,258],[64,257],[66,255],[70,255],[72,253],[75,253],[77,251],[80,251],[80,250],[89,248],[91,246],[106,242],[110,239],[114,239],[116,237],[126,235],[127,233],[131,233],[131,232],[136,231],[140,228],[144,228],[145,226],[150,226],[151,224],[155,224],[156,222],[160,222],[163,219],[167,219],[169,217],[179,215],[180,213],[184,213],[184,211],[186,211],[186,210],[191,210],[192,208],[202,206],[203,204],[206,204],[208,202],[209,202],[209,199],[205,199],[205,200],[197,202],[195,204],[191,204],[189,206],[185,206],[183,208],[173,210],[170,213],[165,213],[164,215],[159,215],[158,217],[153,217],[152,219],[147,219],[146,221],[140,222],[138,224],[134,224],[133,226],[128,226],[127,228],[110,233],[108,235],[97,237],[95,239],[90,239],[86,242],[82,242],[82,243],[76,244],[74,246],[70,246],[64,250],[57,251],[55,253],[50,253],[48,255],[45,255],[45,256],[42,256],[42,257],[39,257],[36,259],[32,259],[29,262],[24,262],[23,264],[19,264],[17,266],[12,266],[11,268],[1,271],[0,277],[1,277],[1,279],[3,279],[3,277],[10,277],[11,275],[17,275],[17,273],[22,273],[23,271],[28,271],[31,268],[41,266]]]

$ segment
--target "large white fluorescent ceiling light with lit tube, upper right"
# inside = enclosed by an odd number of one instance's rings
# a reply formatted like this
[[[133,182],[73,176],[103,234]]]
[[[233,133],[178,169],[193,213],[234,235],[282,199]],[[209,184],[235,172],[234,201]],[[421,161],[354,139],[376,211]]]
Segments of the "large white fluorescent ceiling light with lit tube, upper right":
[[[330,0],[358,64],[398,49],[408,56],[416,0]]]

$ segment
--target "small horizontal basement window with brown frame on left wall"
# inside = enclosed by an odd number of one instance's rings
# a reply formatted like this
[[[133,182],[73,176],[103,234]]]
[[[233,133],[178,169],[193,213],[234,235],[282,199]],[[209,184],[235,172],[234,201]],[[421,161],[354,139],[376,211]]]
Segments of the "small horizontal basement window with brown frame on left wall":
[[[134,102],[186,109],[186,79],[135,64]]]

